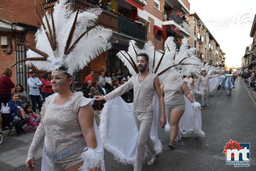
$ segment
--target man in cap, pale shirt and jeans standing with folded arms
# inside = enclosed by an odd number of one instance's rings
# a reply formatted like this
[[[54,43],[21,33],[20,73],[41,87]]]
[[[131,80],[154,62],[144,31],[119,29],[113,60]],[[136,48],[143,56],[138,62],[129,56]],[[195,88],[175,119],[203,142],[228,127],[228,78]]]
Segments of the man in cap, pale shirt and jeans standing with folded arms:
[[[39,78],[35,77],[35,71],[29,70],[28,86],[33,112],[36,112],[36,103],[38,104],[38,110],[41,111],[42,103],[39,91],[41,85],[43,85],[43,83]]]

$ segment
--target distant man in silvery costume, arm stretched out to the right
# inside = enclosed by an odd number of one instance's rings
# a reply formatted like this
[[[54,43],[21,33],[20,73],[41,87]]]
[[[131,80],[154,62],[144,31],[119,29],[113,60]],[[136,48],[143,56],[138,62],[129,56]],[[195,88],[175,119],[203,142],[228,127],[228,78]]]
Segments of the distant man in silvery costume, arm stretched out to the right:
[[[207,106],[209,106],[209,79],[214,78],[214,77],[218,77],[218,75],[207,75],[206,70],[202,70],[202,75],[198,78],[198,91],[200,90],[200,84],[202,82],[201,85],[201,99],[202,99],[202,106],[204,107],[204,105],[206,104]],[[206,103],[204,101],[204,97],[206,96]]]

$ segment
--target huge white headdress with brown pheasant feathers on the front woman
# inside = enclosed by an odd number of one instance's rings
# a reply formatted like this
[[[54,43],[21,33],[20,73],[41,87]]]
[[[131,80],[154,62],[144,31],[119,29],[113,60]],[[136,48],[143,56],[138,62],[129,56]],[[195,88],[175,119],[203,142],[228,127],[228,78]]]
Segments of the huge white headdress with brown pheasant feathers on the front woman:
[[[102,9],[88,9],[85,12],[71,12],[66,0],[55,3],[54,12],[42,18],[36,9],[42,26],[35,35],[36,48],[16,41],[27,49],[26,61],[38,70],[54,71],[67,68],[73,75],[83,69],[102,52],[111,48],[108,40],[112,31],[95,26]]]

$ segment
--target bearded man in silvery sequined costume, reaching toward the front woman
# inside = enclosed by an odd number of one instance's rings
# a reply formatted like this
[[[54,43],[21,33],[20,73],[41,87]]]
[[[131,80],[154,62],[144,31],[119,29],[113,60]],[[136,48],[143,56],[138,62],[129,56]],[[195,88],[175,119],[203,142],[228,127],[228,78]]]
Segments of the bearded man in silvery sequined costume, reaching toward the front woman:
[[[161,128],[163,128],[166,123],[163,95],[161,93],[159,79],[156,74],[148,72],[148,61],[149,58],[147,54],[139,53],[137,55],[137,69],[140,73],[133,75],[125,84],[116,88],[108,95],[96,96],[97,100],[105,99],[106,101],[109,101],[117,96],[121,96],[132,88],[134,89],[134,119],[136,121],[137,129],[139,130],[134,171],[142,170],[146,146],[153,156],[152,159],[148,161],[148,165],[153,165],[160,157],[160,153],[154,149],[154,143],[150,138],[150,129],[154,116],[152,100],[155,91],[157,92],[162,109],[160,118]]]

